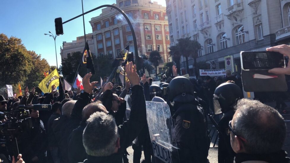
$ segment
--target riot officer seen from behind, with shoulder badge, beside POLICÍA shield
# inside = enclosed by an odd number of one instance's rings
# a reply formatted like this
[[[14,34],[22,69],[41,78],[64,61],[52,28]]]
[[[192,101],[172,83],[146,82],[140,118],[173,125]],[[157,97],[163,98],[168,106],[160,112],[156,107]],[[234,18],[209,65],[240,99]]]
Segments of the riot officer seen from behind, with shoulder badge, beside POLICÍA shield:
[[[174,102],[172,123],[176,135],[173,143],[176,142],[179,148],[177,152],[180,162],[207,162],[210,140],[203,108],[197,106],[192,83],[178,76],[172,79],[167,90],[168,100]],[[178,158],[177,152],[173,151],[173,160]]]

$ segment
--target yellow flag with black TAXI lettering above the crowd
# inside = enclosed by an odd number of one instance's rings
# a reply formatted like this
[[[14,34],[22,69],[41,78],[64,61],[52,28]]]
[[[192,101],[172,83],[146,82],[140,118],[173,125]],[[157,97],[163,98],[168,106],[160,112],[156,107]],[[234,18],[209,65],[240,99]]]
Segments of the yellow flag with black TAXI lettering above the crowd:
[[[38,85],[40,90],[42,90],[43,93],[49,93],[51,92],[51,86],[55,85],[55,87],[59,86],[59,75],[57,69],[52,71],[46,78],[44,78]]]

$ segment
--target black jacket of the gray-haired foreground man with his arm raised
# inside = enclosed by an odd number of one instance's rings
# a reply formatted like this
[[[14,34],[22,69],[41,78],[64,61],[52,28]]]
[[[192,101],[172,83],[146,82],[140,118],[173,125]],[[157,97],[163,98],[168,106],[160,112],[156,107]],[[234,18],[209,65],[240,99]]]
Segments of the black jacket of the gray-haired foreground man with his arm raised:
[[[132,87],[132,107],[130,118],[118,126],[120,146],[118,152],[110,156],[95,157],[87,156],[85,163],[122,163],[123,154],[133,140],[139,135],[146,124],[146,104],[143,87],[136,85]]]

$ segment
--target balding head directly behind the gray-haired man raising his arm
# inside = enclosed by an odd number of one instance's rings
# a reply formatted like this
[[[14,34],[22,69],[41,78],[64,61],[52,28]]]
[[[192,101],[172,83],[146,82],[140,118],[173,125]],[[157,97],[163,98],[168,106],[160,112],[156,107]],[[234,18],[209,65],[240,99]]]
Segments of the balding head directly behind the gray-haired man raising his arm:
[[[103,106],[101,101],[96,101],[94,103],[90,103],[87,106],[85,106],[85,108],[82,110],[82,121],[85,122],[87,121],[87,119],[90,118],[90,115],[92,115],[95,112],[104,112],[104,113],[108,113],[108,111],[106,110],[106,107]]]

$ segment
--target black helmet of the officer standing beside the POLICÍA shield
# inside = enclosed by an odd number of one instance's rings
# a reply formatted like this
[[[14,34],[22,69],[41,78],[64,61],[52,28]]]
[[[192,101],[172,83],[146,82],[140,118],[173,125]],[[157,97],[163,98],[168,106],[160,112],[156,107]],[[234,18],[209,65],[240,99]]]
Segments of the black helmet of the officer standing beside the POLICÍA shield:
[[[186,103],[195,100],[193,84],[184,76],[173,78],[167,91],[168,100],[171,102]]]

